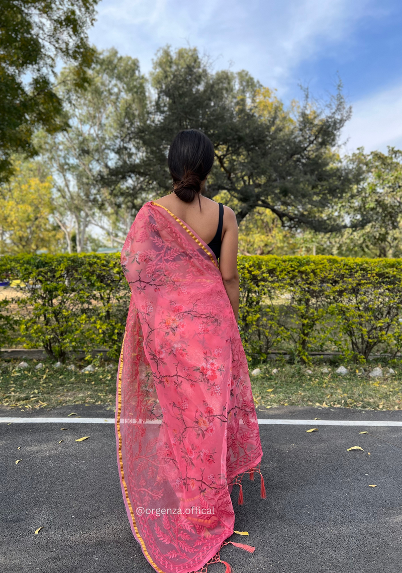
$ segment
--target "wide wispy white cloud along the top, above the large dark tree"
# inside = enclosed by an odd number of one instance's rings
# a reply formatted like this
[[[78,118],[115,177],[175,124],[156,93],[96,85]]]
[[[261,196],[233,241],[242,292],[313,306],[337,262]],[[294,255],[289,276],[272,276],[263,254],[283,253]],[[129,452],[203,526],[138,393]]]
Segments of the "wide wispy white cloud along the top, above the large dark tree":
[[[373,0],[103,0],[90,39],[137,57],[147,72],[160,46],[188,42],[286,91],[301,62],[345,49]],[[221,57],[219,57],[221,56]],[[332,70],[335,72],[336,70]],[[293,80],[294,83],[294,80]],[[294,87],[294,85],[293,85]]]

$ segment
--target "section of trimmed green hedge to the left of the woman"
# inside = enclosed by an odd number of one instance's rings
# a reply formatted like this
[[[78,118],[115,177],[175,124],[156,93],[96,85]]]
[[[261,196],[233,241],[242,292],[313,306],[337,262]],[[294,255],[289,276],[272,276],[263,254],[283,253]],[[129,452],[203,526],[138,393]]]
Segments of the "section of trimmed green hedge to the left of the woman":
[[[129,303],[119,256],[5,256],[0,269],[14,281],[11,302],[25,347],[43,347],[61,360],[82,348],[119,354]]]

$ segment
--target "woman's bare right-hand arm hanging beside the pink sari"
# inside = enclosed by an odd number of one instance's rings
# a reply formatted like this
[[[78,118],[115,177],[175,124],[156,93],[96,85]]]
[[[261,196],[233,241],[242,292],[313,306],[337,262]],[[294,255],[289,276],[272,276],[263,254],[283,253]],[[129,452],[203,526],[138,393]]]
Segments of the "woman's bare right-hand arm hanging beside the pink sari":
[[[239,320],[239,273],[237,270],[238,227],[234,211],[223,207],[224,235],[220,246],[219,270],[236,321]]]

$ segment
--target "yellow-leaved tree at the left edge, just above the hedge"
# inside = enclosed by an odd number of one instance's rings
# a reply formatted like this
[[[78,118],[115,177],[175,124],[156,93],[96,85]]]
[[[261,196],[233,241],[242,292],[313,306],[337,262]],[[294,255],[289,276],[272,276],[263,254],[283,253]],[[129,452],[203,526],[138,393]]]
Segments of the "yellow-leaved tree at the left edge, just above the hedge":
[[[15,162],[15,173],[0,185],[2,254],[60,250],[61,233],[52,224],[52,178],[40,163]]]

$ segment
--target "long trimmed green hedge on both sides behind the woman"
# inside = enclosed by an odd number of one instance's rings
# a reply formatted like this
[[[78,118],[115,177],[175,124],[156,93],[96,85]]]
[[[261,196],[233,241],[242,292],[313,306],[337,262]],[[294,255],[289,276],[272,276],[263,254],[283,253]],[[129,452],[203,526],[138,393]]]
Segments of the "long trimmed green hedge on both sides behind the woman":
[[[240,327],[249,359],[272,348],[305,362],[336,348],[364,362],[402,347],[402,260],[240,256]],[[119,355],[129,289],[118,254],[0,257],[2,346],[44,347],[52,358],[85,348]],[[19,281],[19,282],[18,282]]]

